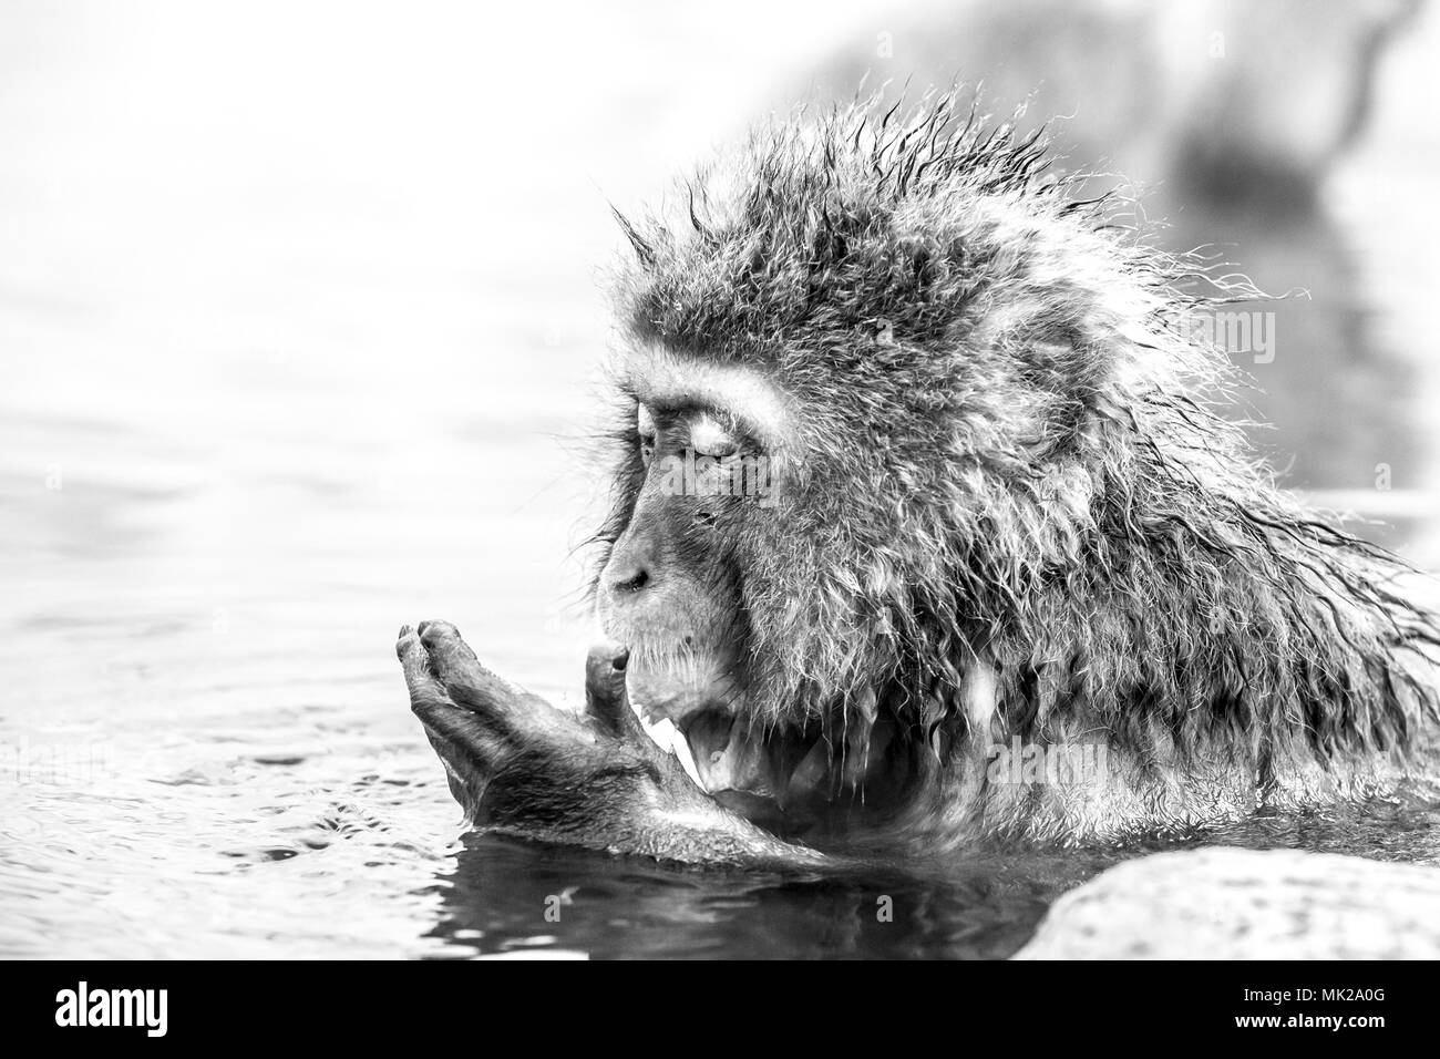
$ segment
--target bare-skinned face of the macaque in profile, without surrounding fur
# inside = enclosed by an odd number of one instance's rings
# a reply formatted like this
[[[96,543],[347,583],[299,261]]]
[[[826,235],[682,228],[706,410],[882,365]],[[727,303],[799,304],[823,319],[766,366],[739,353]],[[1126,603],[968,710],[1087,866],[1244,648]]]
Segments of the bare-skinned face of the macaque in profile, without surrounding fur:
[[[631,650],[631,700],[675,725],[701,782],[763,798],[772,749],[747,709],[756,651],[746,572],[776,533],[773,422],[747,415],[734,385],[667,379],[655,365],[632,365],[629,376],[624,510],[596,609],[606,635]]]

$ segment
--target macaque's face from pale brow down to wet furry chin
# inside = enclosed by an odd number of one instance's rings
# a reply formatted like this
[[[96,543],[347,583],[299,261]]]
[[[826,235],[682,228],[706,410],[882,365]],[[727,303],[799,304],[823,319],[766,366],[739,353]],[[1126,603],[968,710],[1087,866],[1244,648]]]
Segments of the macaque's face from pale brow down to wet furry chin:
[[[805,709],[788,687],[806,680],[793,658],[806,644],[775,634],[776,615],[808,614],[796,582],[819,584],[804,490],[824,461],[802,461],[792,398],[763,372],[677,353],[641,352],[624,370],[619,503],[595,598],[629,647],[631,700],[671,720],[704,788],[752,820],[804,828],[860,801],[840,792],[861,784],[877,804],[910,769],[886,749],[876,693]]]

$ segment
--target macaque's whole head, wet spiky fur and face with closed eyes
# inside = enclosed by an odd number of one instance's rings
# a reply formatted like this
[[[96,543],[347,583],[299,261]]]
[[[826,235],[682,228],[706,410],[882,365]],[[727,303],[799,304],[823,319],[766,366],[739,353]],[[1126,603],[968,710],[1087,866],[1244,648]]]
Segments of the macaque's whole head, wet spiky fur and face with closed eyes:
[[[1161,298],[1035,140],[949,98],[888,121],[756,134],[678,219],[622,219],[598,614],[706,787],[791,817],[899,798],[985,723],[985,645],[1074,565],[1117,409],[1192,367],[1138,370]]]

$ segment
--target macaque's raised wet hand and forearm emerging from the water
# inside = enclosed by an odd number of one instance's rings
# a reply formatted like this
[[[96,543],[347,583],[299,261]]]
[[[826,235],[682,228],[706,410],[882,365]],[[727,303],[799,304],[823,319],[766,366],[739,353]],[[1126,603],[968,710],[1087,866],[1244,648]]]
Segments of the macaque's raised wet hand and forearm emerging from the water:
[[[645,735],[621,648],[592,648],[583,715],[487,670],[444,621],[402,628],[396,654],[410,709],[477,827],[684,863],[825,863],[719,805]]]

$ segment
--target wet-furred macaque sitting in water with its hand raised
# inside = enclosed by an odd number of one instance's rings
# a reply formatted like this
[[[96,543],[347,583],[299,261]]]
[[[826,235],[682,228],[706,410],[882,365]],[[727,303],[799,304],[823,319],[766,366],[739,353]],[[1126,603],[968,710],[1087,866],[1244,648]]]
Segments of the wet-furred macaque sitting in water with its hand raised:
[[[402,630],[477,826],[683,862],[1089,843],[1424,771],[1440,627],[1211,408],[1162,255],[952,95],[759,131],[622,219],[613,641],[583,715]],[[1303,356],[1293,350],[1292,356]],[[668,719],[698,785],[644,733]]]

